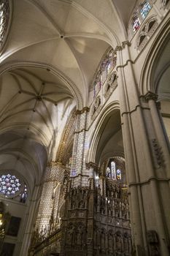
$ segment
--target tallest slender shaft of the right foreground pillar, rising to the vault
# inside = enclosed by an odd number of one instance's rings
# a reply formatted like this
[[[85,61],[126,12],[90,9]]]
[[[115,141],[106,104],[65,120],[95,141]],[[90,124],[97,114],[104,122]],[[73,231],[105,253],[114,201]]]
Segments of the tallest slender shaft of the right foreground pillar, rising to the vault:
[[[129,185],[129,205],[131,212],[132,243],[136,244],[143,254],[147,255],[146,227],[144,221],[144,208],[142,204],[142,191],[139,185],[139,170],[136,161],[135,140],[133,135],[133,122],[131,120],[131,109],[138,105],[136,86],[134,84],[134,74],[131,70],[131,61],[128,58],[128,42],[124,48],[117,51],[117,83],[120,90],[120,113],[123,131],[123,145],[125,151],[125,170],[127,183]],[[124,51],[124,60],[121,50]],[[128,59],[128,61],[127,61]],[[127,61],[127,62],[126,62]],[[126,65],[124,65],[126,62]],[[128,81],[125,80],[126,75]],[[128,86],[130,88],[128,88]],[[131,88],[132,87],[132,88]],[[129,90],[132,91],[129,97]],[[131,99],[133,99],[131,101]],[[130,102],[129,102],[130,101]]]

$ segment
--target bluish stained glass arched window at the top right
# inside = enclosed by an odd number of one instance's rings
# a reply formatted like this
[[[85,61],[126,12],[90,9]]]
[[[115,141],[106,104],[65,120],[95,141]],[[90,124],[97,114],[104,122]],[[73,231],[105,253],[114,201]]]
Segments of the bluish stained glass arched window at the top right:
[[[134,15],[131,19],[130,23],[130,29],[135,34],[136,31],[139,29],[139,27],[142,24],[142,21],[147,17],[148,13],[150,12],[152,8],[152,5],[150,4],[150,1],[143,1],[142,4],[139,5],[139,7],[136,8],[134,11]]]

